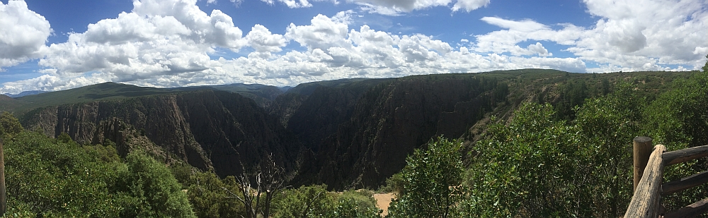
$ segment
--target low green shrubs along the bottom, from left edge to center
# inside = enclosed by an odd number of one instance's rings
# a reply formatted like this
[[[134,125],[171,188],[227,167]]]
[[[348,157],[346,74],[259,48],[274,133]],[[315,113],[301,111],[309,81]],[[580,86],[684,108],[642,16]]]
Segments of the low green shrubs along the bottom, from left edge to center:
[[[115,143],[79,145],[68,135],[47,138],[0,114],[4,140],[6,217],[241,217],[234,176],[219,178],[184,163]],[[367,190],[328,192],[326,186],[274,193],[273,217],[380,217]],[[265,198],[265,196],[263,196]],[[262,211],[257,211],[262,213]]]

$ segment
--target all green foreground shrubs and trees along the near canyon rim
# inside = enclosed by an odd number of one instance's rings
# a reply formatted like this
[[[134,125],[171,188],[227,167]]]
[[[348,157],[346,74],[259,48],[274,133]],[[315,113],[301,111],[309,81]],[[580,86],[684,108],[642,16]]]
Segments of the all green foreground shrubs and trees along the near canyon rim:
[[[463,140],[430,140],[379,190],[396,193],[387,217],[622,216],[632,197],[632,138],[646,135],[668,150],[708,144],[708,63],[667,90],[621,77],[612,86],[600,81],[571,81],[555,105],[539,95],[508,119],[492,118],[472,150]],[[494,90],[515,91],[506,83]],[[256,183],[246,190],[259,174],[219,178],[140,149],[120,157],[110,141],[47,138],[7,112],[0,137],[6,217],[381,217],[371,190],[273,191]],[[707,169],[706,159],[678,164],[666,179]],[[707,188],[666,196],[663,205],[683,207],[708,196]]]

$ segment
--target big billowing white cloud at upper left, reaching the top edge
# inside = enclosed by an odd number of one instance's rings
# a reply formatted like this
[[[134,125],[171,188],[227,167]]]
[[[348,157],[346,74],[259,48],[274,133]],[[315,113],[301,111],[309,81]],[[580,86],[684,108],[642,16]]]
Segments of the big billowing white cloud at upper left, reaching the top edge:
[[[134,1],[131,13],[100,20],[86,32],[70,33],[67,42],[50,45],[39,64],[57,69],[58,75],[101,71],[115,75],[113,81],[125,82],[204,71],[209,67],[207,54],[215,47],[237,52],[248,44],[231,17],[219,10],[207,15],[195,2]],[[254,48],[279,49],[277,36],[261,27],[254,30],[249,38]]]

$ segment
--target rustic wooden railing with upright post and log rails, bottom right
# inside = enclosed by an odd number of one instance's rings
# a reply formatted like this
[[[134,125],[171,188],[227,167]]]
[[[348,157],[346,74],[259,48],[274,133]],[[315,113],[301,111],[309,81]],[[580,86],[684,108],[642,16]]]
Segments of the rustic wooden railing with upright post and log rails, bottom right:
[[[666,152],[666,147],[651,148],[651,138],[634,138],[634,196],[624,217],[695,217],[708,212],[708,198],[679,210],[666,212],[661,196],[677,193],[708,182],[708,171],[677,181],[662,183],[664,166],[708,157],[708,145]]]

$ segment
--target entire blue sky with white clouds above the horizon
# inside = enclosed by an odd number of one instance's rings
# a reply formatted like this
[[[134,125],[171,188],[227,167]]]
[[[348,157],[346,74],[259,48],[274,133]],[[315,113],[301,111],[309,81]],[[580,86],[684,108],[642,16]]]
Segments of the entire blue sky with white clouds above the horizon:
[[[0,93],[692,71],[704,0],[0,0]]]

